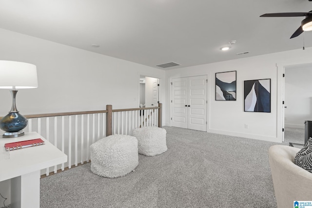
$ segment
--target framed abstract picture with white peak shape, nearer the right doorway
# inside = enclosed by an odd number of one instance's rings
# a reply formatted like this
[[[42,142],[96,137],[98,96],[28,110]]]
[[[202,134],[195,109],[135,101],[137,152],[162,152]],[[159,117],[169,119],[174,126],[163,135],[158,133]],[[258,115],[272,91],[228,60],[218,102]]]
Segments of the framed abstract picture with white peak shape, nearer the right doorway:
[[[244,81],[245,112],[271,113],[271,79]]]

